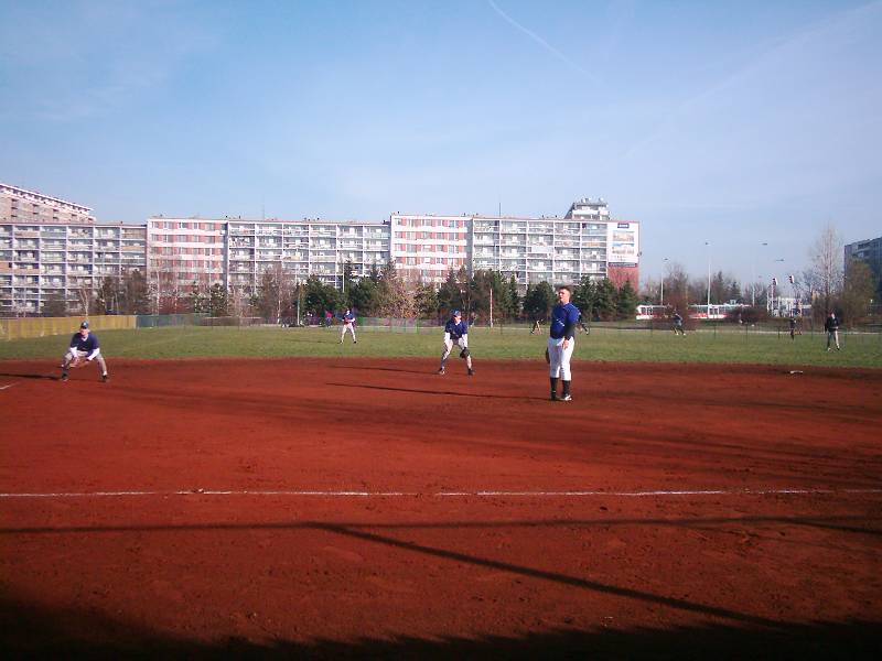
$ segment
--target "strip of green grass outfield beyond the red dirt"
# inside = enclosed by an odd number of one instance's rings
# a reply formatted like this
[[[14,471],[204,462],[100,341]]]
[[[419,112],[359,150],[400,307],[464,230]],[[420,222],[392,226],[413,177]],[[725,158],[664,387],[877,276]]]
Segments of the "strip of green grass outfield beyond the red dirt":
[[[407,333],[359,328],[359,342],[349,336],[340,344],[340,328],[211,328],[181,326],[137,330],[99,330],[101,351],[114,358],[309,357],[438,357],[441,329]],[[470,348],[475,360],[542,359],[547,329],[530,335],[526,328],[472,328]],[[0,342],[0,359],[60,359],[69,336]],[[576,360],[641,360],[673,362],[745,362],[786,366],[882,368],[882,335],[843,333],[841,351],[825,350],[824,334],[790,340],[786,334],[699,330],[677,337],[666,330],[592,328],[577,337]],[[477,365],[477,364],[476,364]]]

